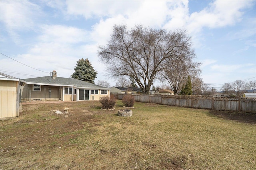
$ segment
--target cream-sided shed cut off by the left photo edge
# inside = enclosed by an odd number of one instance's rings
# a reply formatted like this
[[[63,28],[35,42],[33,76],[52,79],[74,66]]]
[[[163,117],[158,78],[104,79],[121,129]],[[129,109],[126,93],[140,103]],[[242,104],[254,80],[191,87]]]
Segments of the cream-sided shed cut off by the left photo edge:
[[[20,86],[26,82],[0,73],[0,119],[18,117],[20,107]]]

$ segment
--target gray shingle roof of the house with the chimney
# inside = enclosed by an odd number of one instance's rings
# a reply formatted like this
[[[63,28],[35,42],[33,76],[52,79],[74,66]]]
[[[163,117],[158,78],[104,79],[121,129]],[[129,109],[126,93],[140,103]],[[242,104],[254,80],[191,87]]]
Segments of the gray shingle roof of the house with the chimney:
[[[28,82],[27,84],[47,84],[52,86],[66,85],[66,86],[77,86],[82,88],[110,89],[110,88],[102,87],[96,84],[92,84],[92,83],[74,79],[74,78],[56,77],[54,79],[52,78],[52,76],[44,76],[44,77],[36,77],[36,78],[27,78],[23,80]]]

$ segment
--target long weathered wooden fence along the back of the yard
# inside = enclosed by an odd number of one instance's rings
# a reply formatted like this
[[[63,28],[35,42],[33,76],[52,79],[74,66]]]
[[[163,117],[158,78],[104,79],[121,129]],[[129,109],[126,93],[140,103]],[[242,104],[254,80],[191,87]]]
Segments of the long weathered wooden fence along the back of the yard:
[[[123,96],[128,94],[113,93],[111,95],[114,96],[116,99],[122,100]],[[171,95],[165,96],[140,94],[132,94],[132,96],[134,96],[135,101],[144,103],[156,103],[198,109],[256,113],[256,98]]]

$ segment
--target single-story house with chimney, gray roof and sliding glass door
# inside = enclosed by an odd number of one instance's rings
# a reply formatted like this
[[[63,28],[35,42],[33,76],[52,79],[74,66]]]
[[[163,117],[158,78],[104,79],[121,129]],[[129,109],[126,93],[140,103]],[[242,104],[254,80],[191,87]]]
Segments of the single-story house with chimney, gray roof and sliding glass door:
[[[81,101],[100,100],[101,96],[110,96],[110,88],[105,88],[73,78],[52,76],[23,79],[27,82],[21,89],[22,101]]]

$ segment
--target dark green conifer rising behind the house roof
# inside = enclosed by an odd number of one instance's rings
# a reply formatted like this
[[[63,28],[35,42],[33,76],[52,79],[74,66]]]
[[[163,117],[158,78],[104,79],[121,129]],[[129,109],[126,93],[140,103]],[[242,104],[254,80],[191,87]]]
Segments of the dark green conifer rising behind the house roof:
[[[97,78],[97,72],[88,59],[84,60],[82,58],[78,60],[74,70],[75,72],[71,75],[72,78],[94,84],[94,80]]]

